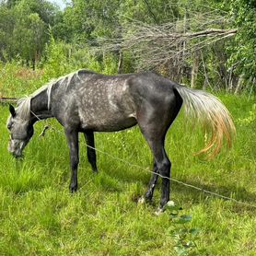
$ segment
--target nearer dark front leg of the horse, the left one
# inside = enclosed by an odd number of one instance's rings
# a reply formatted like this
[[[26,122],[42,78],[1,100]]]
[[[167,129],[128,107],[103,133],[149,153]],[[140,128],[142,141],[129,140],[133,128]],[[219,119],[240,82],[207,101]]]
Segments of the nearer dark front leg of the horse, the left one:
[[[78,133],[76,131],[65,129],[65,136],[69,146],[69,157],[71,167],[70,192],[77,190],[77,167],[79,163]]]

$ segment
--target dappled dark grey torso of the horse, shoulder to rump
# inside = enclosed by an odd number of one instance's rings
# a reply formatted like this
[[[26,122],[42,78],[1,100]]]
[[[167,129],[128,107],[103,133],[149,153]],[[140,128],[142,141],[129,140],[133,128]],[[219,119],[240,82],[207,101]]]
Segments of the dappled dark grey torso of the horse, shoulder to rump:
[[[137,123],[142,105],[159,108],[171,96],[169,80],[151,73],[104,76],[82,72],[62,89],[58,97],[60,119],[82,131],[129,128]]]

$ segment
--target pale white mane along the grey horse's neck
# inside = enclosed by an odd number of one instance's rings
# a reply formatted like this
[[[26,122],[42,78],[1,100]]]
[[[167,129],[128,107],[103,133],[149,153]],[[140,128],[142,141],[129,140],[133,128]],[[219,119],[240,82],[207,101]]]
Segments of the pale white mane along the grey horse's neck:
[[[56,85],[57,83],[59,83],[61,86],[65,83],[65,85],[68,87],[71,83],[71,80],[73,78],[75,79],[80,79],[79,78],[79,71],[78,70],[76,72],[70,73],[66,76],[61,76],[57,79],[52,79],[49,83],[47,83],[46,85],[40,87],[39,89],[37,89],[36,91],[34,91],[32,94],[30,94],[27,97],[18,99],[17,101],[17,114],[18,116],[23,119],[23,120],[29,120],[30,117],[30,108],[31,108],[31,99],[35,98],[36,96],[38,96],[39,94],[41,94],[41,92],[47,90],[47,97],[48,97],[48,110],[50,110],[50,104],[51,104],[51,95],[52,95],[52,87],[54,85]]]

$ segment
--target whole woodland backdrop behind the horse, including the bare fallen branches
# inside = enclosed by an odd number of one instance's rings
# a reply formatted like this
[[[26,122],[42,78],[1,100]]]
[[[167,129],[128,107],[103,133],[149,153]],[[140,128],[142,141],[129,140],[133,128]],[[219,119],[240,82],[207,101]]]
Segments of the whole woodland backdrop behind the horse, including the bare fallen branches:
[[[41,82],[78,68],[151,70],[191,87],[251,94],[255,34],[252,0],[73,0],[64,9],[0,1],[1,67],[29,67],[43,73]],[[9,94],[1,85],[0,93]]]

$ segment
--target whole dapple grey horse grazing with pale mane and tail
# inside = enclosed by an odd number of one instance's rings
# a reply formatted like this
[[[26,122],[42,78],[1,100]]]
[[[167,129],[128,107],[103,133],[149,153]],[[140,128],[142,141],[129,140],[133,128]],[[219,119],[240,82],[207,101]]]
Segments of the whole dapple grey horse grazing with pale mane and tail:
[[[169,201],[169,157],[165,136],[182,103],[188,118],[201,122],[210,133],[208,145],[201,152],[219,152],[226,137],[231,145],[235,127],[226,107],[213,95],[170,81],[153,73],[104,76],[78,70],[41,87],[29,97],[20,99],[7,121],[10,132],[8,150],[20,157],[33,135],[33,124],[56,118],[64,126],[70,149],[70,190],[77,190],[78,133],[85,135],[87,158],[97,171],[94,132],[116,132],[138,124],[154,157],[153,175],[145,192],[151,201],[158,174],[162,178],[159,209]]]

